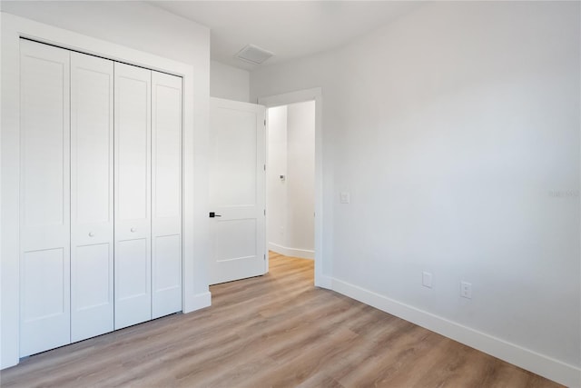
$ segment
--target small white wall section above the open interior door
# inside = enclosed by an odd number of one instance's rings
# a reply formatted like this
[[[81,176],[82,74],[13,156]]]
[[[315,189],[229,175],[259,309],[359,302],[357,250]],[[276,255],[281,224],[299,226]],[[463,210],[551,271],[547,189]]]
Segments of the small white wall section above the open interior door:
[[[210,95],[227,100],[248,103],[251,93],[251,75],[242,70],[220,62],[210,62]]]

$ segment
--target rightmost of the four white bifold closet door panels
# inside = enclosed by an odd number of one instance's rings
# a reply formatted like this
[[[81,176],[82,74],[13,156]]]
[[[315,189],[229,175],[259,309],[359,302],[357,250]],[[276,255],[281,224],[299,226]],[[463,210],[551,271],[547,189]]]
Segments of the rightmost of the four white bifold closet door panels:
[[[152,72],[153,318],[182,311],[182,78]]]

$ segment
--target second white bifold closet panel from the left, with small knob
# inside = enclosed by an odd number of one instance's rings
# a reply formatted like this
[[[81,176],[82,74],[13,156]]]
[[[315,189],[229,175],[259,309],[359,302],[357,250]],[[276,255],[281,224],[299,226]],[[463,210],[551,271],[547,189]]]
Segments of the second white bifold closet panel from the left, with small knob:
[[[113,331],[113,61],[71,53],[71,340]]]

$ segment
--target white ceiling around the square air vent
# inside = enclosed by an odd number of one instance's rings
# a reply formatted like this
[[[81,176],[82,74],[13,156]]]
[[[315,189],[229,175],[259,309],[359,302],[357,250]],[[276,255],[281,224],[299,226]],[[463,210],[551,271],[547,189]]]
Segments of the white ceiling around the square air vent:
[[[211,29],[212,60],[245,70],[245,45],[275,55],[272,65],[346,45],[422,5],[414,1],[153,1]]]

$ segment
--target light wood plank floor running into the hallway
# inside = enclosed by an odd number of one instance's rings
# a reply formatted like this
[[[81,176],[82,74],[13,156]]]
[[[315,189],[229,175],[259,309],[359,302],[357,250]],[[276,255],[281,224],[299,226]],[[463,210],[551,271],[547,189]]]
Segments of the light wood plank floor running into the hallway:
[[[313,262],[211,287],[212,307],[74,343],[2,371],[9,386],[554,387],[313,284]]]

